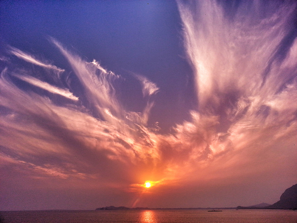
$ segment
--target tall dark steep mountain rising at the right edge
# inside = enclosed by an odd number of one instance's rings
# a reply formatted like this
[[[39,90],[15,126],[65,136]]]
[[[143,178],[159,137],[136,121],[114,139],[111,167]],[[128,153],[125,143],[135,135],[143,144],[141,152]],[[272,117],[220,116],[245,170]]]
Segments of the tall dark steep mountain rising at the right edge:
[[[267,209],[297,209],[297,184],[285,190],[280,200]]]

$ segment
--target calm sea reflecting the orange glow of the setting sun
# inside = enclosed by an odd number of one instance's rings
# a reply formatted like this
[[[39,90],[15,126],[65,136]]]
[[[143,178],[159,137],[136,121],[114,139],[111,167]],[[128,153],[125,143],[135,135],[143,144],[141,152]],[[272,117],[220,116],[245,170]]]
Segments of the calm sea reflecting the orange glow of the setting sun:
[[[114,210],[0,212],[3,223],[297,223],[292,210]]]

